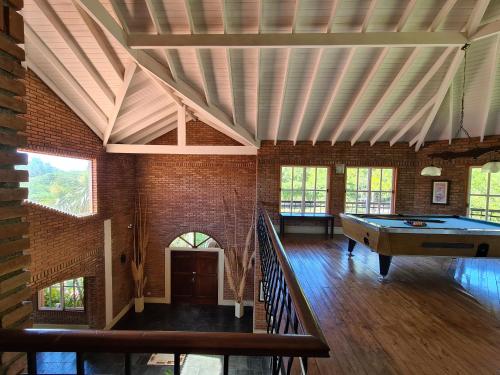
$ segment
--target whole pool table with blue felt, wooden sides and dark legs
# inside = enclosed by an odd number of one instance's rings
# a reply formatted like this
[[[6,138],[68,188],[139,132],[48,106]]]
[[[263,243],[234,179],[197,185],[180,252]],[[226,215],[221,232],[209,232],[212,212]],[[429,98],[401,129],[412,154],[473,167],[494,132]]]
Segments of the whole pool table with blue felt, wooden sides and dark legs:
[[[340,214],[348,251],[356,242],[379,254],[387,276],[394,255],[500,258],[500,224],[452,215]]]

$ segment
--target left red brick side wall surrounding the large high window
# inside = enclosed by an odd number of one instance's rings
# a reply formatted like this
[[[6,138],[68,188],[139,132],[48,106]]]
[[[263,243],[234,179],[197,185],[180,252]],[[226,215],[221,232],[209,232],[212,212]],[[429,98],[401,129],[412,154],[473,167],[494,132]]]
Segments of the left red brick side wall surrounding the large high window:
[[[94,160],[94,215],[77,218],[29,204],[33,291],[54,282],[87,276],[88,323],[104,326],[105,219],[112,220],[113,315],[132,297],[130,230],[135,193],[135,157],[106,154],[101,140],[36,75],[26,75],[28,151]],[[127,255],[126,264],[120,255]],[[39,323],[54,316],[37,314]],[[59,313],[60,314],[60,313]],[[55,314],[58,315],[58,314]],[[43,317],[47,319],[42,319]],[[65,323],[61,321],[61,323]]]

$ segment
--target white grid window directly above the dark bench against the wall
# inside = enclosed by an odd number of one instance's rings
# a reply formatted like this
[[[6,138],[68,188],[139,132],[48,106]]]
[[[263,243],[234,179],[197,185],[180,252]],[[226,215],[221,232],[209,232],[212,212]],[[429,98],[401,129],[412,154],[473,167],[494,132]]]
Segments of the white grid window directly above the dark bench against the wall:
[[[281,167],[283,213],[326,213],[327,167]]]

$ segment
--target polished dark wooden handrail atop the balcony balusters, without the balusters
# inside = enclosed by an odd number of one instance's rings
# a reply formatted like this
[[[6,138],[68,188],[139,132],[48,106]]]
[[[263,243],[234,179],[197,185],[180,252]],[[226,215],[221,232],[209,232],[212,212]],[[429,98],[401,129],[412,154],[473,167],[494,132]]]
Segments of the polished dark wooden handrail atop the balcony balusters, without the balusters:
[[[196,353],[328,357],[330,348],[265,208],[259,205],[303,334],[0,329],[0,352]]]

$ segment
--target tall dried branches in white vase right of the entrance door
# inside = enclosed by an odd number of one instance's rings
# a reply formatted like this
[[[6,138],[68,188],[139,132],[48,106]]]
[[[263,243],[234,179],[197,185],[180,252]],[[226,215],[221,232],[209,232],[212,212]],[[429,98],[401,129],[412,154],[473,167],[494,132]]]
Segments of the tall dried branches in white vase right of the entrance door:
[[[243,215],[241,215],[241,209],[237,207],[238,194],[236,190],[233,193],[232,207],[225,198],[222,198],[222,202],[224,211],[224,235],[226,240],[224,248],[224,268],[229,288],[234,295],[234,315],[237,318],[241,318],[244,313],[243,297],[246,280],[252,268],[252,260],[255,257],[255,247],[252,241],[252,235],[255,228],[255,207],[252,209],[252,219],[248,231],[246,232],[245,242],[242,244],[238,238],[238,228],[243,228],[244,226],[239,225],[238,218],[241,218]]]

